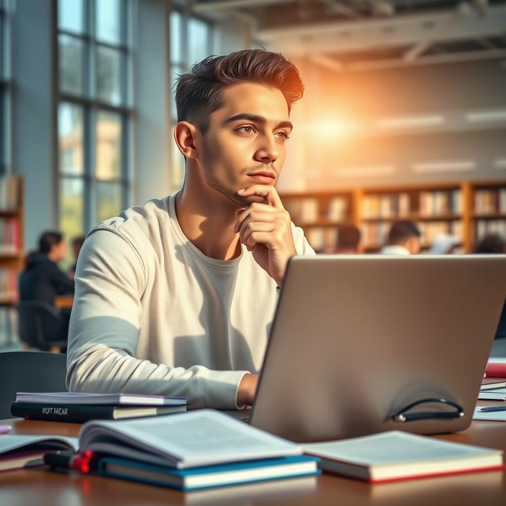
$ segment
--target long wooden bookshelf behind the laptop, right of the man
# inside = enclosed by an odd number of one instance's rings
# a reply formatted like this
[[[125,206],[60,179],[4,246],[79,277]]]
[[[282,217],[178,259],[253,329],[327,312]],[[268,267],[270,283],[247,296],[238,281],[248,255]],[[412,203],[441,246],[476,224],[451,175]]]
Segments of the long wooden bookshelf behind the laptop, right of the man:
[[[391,223],[399,219],[417,223],[423,250],[441,233],[457,236],[462,252],[472,251],[476,237],[485,233],[506,238],[506,180],[281,193],[280,197],[317,252],[331,251],[336,227],[344,222],[361,229],[366,252],[378,251]]]

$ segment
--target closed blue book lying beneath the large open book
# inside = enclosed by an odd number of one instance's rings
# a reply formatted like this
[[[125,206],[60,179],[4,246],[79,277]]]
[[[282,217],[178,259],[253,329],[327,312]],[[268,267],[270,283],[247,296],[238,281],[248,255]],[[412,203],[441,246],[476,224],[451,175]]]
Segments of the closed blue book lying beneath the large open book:
[[[97,466],[102,476],[188,491],[317,475],[321,473],[318,469],[319,460],[317,457],[295,455],[193,469],[175,469],[146,464],[138,460],[103,457]]]

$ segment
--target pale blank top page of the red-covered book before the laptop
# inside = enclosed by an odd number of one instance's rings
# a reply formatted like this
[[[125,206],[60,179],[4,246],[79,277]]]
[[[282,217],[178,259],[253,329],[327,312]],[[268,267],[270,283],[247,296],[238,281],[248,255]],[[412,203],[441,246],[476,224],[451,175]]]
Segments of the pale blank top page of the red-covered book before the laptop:
[[[370,466],[387,463],[465,458],[496,452],[489,448],[441,441],[400,431],[304,445],[306,453]]]

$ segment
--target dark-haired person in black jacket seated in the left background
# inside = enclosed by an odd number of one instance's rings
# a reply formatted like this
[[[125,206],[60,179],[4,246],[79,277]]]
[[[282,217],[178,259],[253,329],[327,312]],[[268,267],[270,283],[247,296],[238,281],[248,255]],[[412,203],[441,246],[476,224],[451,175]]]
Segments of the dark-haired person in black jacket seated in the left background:
[[[21,301],[39,301],[54,306],[57,295],[74,293],[74,281],[57,263],[65,258],[66,244],[60,232],[44,232],[39,249],[27,256],[25,270],[19,278]],[[60,313],[62,335],[68,336],[70,311]]]

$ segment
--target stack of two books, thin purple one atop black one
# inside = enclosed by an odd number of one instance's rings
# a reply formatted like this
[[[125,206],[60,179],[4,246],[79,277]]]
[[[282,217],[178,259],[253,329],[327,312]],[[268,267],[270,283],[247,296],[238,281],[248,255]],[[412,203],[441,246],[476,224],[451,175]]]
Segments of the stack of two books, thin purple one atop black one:
[[[186,411],[186,397],[140,394],[85,394],[70,392],[18,392],[13,416],[27,420],[83,423],[94,419],[135,418]]]

